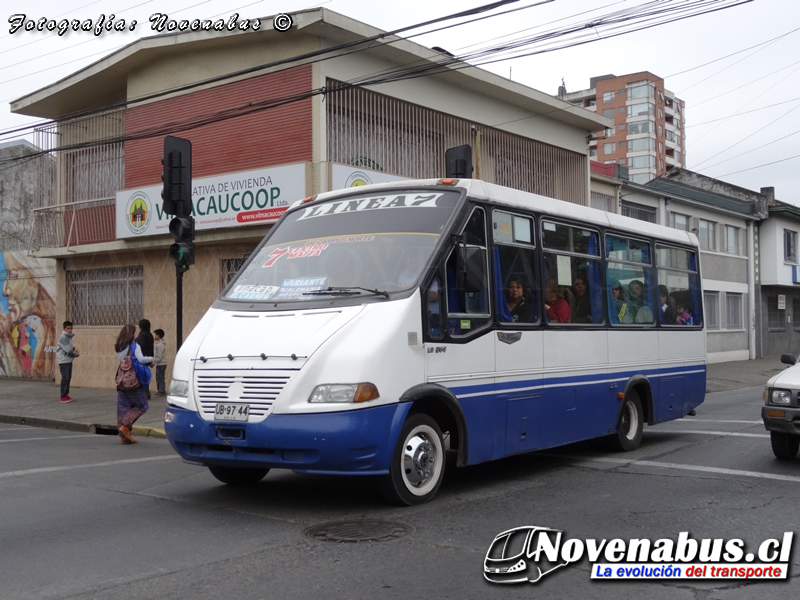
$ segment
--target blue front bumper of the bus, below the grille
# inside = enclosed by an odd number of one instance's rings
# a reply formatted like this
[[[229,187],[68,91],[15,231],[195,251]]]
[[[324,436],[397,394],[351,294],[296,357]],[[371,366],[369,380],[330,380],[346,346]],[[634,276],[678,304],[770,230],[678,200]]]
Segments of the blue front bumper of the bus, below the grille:
[[[167,405],[164,430],[189,463],[290,469],[297,473],[385,475],[408,403],[304,415],[272,414],[258,423],[206,421]]]

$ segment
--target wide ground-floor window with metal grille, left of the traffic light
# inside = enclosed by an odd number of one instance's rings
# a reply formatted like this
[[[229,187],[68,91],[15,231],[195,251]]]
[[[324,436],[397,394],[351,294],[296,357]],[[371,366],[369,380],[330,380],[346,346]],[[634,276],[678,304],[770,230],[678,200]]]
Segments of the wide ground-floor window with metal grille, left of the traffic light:
[[[121,327],[144,316],[144,267],[67,271],[67,320],[75,325]]]

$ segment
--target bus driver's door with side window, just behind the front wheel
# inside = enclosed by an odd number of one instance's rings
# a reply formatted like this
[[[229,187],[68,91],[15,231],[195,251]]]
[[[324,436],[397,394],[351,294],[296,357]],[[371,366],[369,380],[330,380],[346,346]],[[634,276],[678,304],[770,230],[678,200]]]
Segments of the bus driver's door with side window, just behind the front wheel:
[[[491,332],[486,214],[474,207],[445,256],[443,269],[424,296],[428,303],[427,380],[448,388],[464,413],[469,463],[490,460],[503,442],[494,406],[494,342]]]

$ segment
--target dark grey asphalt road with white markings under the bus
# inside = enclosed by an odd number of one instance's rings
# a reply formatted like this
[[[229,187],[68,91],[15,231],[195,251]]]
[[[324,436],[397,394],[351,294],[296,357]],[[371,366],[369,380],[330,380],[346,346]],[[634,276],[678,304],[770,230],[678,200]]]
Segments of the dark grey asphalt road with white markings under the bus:
[[[709,394],[694,418],[645,428],[639,450],[597,444],[456,470],[437,498],[386,505],[372,482],[271,472],[250,489],[183,464],[166,440],[0,425],[0,598],[659,598],[796,594],[781,582],[593,581],[587,561],[535,585],[483,577],[494,536],[522,525],[568,538],[740,538],[798,529],[800,460],[774,459],[762,388]],[[365,520],[388,541],[304,532]],[[798,542],[795,540],[794,546]],[[794,590],[794,592],[792,591]]]

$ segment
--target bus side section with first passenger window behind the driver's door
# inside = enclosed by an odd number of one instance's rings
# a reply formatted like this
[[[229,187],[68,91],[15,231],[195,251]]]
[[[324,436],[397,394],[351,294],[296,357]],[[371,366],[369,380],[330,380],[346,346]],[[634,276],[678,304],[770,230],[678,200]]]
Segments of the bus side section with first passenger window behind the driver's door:
[[[541,447],[542,331],[536,289],[533,218],[495,209],[492,213],[495,405],[504,419],[503,444],[492,458]]]

